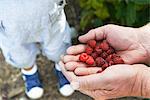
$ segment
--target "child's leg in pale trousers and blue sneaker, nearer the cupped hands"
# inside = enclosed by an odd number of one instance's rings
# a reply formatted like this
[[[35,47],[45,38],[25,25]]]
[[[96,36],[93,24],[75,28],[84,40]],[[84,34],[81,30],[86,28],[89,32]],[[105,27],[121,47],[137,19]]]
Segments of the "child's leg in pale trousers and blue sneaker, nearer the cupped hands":
[[[43,34],[43,43],[41,43],[42,51],[48,59],[55,62],[55,72],[59,80],[60,93],[64,96],[69,96],[74,90],[60,71],[60,66],[58,65],[60,56],[65,54],[66,49],[71,45],[71,30],[63,10],[61,16],[59,16],[59,20],[55,22],[50,29],[49,33]],[[49,40],[46,38],[47,34],[51,36]]]

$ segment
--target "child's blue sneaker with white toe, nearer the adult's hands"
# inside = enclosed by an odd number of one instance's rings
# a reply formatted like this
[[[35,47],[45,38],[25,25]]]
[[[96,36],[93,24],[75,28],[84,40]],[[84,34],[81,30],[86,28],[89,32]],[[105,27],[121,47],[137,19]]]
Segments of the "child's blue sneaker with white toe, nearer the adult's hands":
[[[71,87],[70,82],[66,79],[66,77],[61,72],[59,64],[55,63],[54,71],[58,79],[59,92],[65,97],[72,95],[74,89]]]

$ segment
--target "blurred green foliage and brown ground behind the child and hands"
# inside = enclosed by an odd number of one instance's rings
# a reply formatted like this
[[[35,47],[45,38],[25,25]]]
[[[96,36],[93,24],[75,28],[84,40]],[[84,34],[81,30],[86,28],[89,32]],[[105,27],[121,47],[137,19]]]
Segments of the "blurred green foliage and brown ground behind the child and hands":
[[[78,36],[90,29],[106,24],[141,27],[150,22],[150,0],[67,0],[65,7],[67,20],[77,34],[72,39],[78,43]],[[71,97],[62,97],[57,90],[57,80],[53,72],[53,63],[39,55],[45,94],[40,100],[92,100],[88,96],[75,92]],[[24,94],[24,85],[19,70],[5,63],[0,52],[0,100],[29,100]],[[115,100],[148,100],[136,97],[124,97]]]

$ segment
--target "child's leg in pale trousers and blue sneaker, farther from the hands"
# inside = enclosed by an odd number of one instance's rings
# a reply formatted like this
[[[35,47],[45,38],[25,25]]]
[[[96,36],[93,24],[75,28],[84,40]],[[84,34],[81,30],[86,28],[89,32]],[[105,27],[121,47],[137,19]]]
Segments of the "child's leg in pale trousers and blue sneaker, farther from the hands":
[[[14,67],[21,68],[26,86],[26,94],[30,98],[39,98],[43,94],[37,66],[35,64],[38,49],[35,44],[19,44],[0,40],[5,60]]]

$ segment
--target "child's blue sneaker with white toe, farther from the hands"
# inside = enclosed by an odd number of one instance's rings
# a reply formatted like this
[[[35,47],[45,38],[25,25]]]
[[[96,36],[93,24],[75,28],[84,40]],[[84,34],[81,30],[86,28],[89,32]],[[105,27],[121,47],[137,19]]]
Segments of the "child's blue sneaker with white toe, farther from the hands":
[[[31,99],[38,99],[42,97],[44,90],[39,79],[37,66],[34,65],[32,71],[27,72],[22,70],[23,80],[25,81],[26,95]]]

